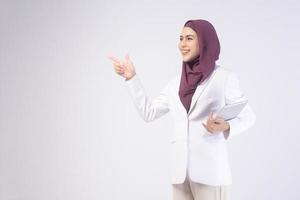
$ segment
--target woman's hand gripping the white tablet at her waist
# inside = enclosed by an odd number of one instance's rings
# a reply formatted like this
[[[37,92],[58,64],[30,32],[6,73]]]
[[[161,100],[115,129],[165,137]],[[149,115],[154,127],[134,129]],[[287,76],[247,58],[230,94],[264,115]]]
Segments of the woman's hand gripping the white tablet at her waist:
[[[210,133],[217,133],[217,132],[223,132],[223,131],[227,132],[230,129],[228,122],[226,122],[221,117],[214,118],[212,113],[209,114],[206,125],[204,123],[202,123],[202,125]]]

